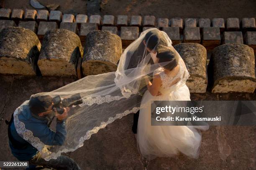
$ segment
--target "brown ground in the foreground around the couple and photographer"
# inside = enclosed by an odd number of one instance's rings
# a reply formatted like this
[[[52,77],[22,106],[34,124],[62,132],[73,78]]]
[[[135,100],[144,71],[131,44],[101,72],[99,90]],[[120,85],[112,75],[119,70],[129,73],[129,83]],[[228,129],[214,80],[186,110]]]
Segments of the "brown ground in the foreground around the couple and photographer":
[[[0,76],[0,160],[15,160],[8,147],[5,119],[29,99],[31,94],[51,91],[75,81],[64,77]],[[221,94],[209,92],[191,94],[192,100],[256,100],[254,94]],[[68,153],[83,170],[93,169],[144,169],[131,131],[133,115],[118,119],[93,134],[84,146]],[[256,127],[210,127],[202,133],[200,157],[191,159],[184,155],[151,160],[148,170],[230,170],[256,169]]]

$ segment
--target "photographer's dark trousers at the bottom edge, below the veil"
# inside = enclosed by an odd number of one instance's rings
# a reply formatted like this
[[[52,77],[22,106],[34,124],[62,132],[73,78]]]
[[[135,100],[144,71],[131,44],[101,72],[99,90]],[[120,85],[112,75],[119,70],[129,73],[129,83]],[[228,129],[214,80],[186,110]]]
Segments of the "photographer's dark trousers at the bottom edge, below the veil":
[[[34,169],[36,165],[43,167],[52,167],[56,170],[81,170],[79,165],[77,165],[77,163],[74,162],[73,159],[67,156],[61,155],[57,159],[51,159],[49,161],[46,161],[41,157],[40,152],[38,152],[38,154],[29,161],[29,165],[30,168],[28,168],[28,170]]]

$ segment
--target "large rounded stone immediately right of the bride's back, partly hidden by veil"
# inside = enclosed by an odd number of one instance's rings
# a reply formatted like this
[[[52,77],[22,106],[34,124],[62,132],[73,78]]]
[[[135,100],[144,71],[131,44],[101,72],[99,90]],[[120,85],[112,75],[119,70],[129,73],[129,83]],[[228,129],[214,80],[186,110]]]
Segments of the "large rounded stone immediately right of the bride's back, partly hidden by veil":
[[[190,93],[205,93],[207,88],[205,47],[198,43],[180,43],[174,48],[184,60],[190,74],[186,83]]]

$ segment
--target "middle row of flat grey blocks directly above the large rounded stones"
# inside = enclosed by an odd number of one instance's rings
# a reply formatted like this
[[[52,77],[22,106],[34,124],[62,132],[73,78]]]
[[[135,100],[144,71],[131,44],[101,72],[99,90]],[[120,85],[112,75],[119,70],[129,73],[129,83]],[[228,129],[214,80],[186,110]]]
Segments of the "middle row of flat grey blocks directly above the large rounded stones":
[[[12,20],[0,20],[0,30],[9,27],[16,26]],[[37,33],[40,41],[43,40],[44,34],[51,29],[59,28],[56,22],[40,22],[39,27],[36,21],[20,21],[19,27],[27,28]],[[143,27],[143,30],[153,27]],[[77,23],[62,23],[60,29],[71,30],[79,35],[79,38],[84,46],[85,38],[87,34],[92,30],[97,30],[97,24],[95,23],[81,23],[81,28],[78,33]],[[120,35],[122,40],[123,48],[126,48],[130,43],[136,40],[139,36],[138,27],[121,27],[120,34],[118,34],[118,28],[114,26],[103,26],[101,30],[110,31],[110,33]],[[169,38],[172,40],[173,45],[179,43],[201,43],[207,50],[219,46],[221,43],[245,43],[251,46],[256,51],[256,31],[247,31],[242,33],[239,31],[225,31],[223,34],[220,33],[220,28],[217,27],[205,27],[200,33],[199,27],[185,28],[183,39],[179,33],[177,27],[166,27],[162,29],[167,33]],[[245,40],[245,41],[244,41]]]

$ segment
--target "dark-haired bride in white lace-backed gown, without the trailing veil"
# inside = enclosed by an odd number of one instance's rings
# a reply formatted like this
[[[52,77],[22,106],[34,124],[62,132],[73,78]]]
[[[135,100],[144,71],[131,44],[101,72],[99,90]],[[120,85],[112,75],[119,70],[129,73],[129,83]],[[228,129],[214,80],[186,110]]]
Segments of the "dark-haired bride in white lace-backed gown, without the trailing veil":
[[[186,84],[177,88],[185,67],[179,64],[179,54],[173,47],[161,47],[155,61],[159,68],[154,71],[153,81],[145,79],[148,90],[143,95],[138,119],[137,142],[141,154],[147,159],[170,157],[179,151],[196,158],[201,142],[201,135],[192,126],[151,126],[151,102],[148,101],[189,101],[190,94]],[[165,66],[161,63],[169,61]],[[176,86],[176,89],[175,89]],[[200,127],[197,127],[200,128]],[[207,128],[207,127],[205,127]]]

